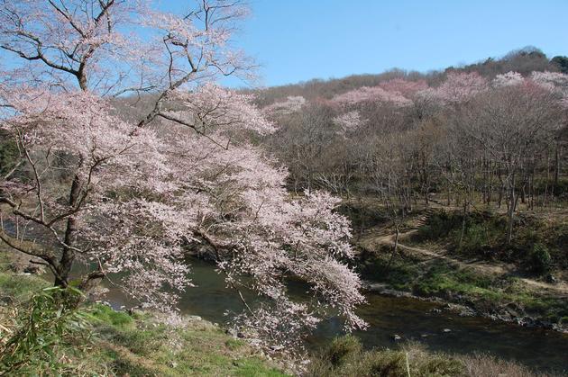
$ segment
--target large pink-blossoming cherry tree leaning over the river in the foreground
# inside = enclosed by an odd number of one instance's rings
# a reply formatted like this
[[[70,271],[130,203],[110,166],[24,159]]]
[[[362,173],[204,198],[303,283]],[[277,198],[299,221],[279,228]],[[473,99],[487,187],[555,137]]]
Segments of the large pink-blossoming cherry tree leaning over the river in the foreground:
[[[38,258],[57,285],[69,285],[80,264],[82,289],[110,278],[161,310],[190,284],[184,247],[206,244],[230,286],[268,299],[245,302],[238,319],[272,344],[298,341],[322,306],[347,328],[364,327],[337,200],[291,200],[286,169],[249,141],[274,124],[251,96],[215,85],[250,77],[252,63],[231,43],[247,9],[206,0],[172,14],[152,5],[0,3],[10,62],[0,127],[23,161],[0,181],[0,239]],[[141,93],[143,114],[117,106],[116,97]],[[317,300],[292,301],[288,276],[310,283]]]

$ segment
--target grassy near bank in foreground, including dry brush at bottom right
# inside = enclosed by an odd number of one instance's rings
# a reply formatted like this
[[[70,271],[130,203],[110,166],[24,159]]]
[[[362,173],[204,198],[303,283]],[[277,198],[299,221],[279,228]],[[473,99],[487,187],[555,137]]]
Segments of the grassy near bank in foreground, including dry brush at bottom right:
[[[33,292],[49,285],[36,275],[0,271],[0,347],[22,324],[19,318],[28,315],[27,302]],[[287,375],[242,340],[195,317],[172,325],[157,314],[127,314],[102,304],[89,304],[82,312],[84,330],[64,332],[60,341],[50,346],[56,355],[54,363],[35,357],[19,365],[12,375]],[[335,340],[310,359],[304,373],[307,376],[399,377],[407,376],[408,370],[412,376],[534,375],[522,366],[489,356],[437,354],[417,345],[365,351],[353,337]]]

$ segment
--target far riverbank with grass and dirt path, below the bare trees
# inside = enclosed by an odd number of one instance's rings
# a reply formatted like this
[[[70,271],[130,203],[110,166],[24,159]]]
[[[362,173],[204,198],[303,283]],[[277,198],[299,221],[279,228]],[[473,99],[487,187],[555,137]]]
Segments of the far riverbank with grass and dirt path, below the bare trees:
[[[506,240],[503,215],[460,211],[419,212],[418,224],[390,241],[363,232],[357,267],[365,280],[387,288],[466,305],[481,315],[521,324],[568,328],[568,223],[518,216],[515,238]],[[421,219],[421,220],[417,220]]]

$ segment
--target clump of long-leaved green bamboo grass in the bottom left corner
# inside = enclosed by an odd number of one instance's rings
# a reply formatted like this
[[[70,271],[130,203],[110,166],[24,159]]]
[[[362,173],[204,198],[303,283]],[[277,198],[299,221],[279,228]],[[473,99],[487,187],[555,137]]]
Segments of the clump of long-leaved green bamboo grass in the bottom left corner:
[[[32,296],[16,323],[14,335],[0,350],[0,373],[53,373],[63,365],[58,350],[86,328],[85,315],[76,309],[82,295],[74,288],[50,287]]]

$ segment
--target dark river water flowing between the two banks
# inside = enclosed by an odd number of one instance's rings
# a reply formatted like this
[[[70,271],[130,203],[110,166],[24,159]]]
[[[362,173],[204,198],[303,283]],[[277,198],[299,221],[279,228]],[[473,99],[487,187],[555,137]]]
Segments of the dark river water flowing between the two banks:
[[[188,288],[180,301],[185,314],[198,315],[216,323],[224,323],[226,310],[240,311],[243,304],[238,296],[224,287],[223,276],[216,274],[212,265],[201,260],[191,261],[192,281],[196,288]],[[478,317],[459,317],[457,314],[430,310],[439,304],[408,298],[367,296],[369,303],[358,312],[370,328],[357,331],[365,346],[393,347],[393,334],[412,339],[428,349],[450,354],[490,353],[499,358],[514,360],[537,370],[554,369],[568,375],[568,335],[552,330],[521,328],[511,324]],[[108,300],[114,304],[126,303],[124,296],[112,289]],[[449,329],[449,332],[444,332]],[[447,330],[446,330],[447,331]],[[328,319],[308,339],[310,346],[324,346],[333,337],[342,334],[338,319]]]

